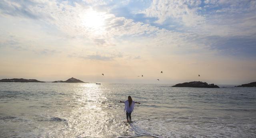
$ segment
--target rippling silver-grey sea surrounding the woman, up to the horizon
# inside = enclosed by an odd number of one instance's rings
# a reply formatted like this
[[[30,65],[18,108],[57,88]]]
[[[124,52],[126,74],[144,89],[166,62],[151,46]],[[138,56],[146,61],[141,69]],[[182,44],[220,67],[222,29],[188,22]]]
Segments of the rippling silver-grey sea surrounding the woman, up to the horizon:
[[[256,137],[256,88],[170,86],[1,82],[0,138]]]

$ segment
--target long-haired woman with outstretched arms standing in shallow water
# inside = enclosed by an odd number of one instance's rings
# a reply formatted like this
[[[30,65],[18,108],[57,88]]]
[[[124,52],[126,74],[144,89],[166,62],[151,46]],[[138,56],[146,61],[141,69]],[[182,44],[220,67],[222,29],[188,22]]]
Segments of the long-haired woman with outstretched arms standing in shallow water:
[[[139,102],[134,102],[132,100],[132,97],[131,96],[128,96],[128,100],[126,101],[120,101],[120,102],[124,102],[124,112],[126,112],[126,119],[127,119],[127,122],[129,122],[129,119],[130,119],[130,122],[132,121],[132,117],[131,117],[131,114],[132,114],[132,111],[134,109],[134,106],[135,104],[140,104]]]

